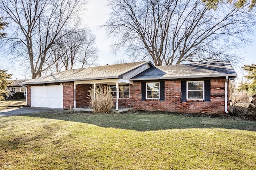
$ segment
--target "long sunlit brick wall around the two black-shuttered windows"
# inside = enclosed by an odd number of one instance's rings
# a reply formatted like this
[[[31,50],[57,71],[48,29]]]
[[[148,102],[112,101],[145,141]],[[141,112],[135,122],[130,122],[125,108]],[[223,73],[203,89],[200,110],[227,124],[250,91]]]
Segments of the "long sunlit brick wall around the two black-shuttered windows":
[[[130,100],[126,107],[132,105],[134,109],[148,111],[171,111],[182,113],[225,113],[225,79],[211,80],[211,101],[188,100],[181,102],[181,81],[172,80],[164,83],[164,101],[141,100],[141,82],[130,85]],[[228,102],[228,110],[230,102]]]

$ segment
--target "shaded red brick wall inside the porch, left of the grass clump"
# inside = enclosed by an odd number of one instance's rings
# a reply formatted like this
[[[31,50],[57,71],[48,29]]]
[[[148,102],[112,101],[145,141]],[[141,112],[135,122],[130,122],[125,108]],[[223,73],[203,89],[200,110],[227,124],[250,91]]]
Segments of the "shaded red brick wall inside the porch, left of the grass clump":
[[[76,85],[76,107],[88,107],[89,99],[87,95],[91,90],[92,84],[78,84]]]

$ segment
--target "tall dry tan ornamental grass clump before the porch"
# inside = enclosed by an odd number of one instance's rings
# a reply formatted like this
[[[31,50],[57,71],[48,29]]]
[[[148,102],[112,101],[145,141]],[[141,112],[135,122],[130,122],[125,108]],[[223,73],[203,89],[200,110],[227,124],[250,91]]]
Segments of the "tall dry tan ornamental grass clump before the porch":
[[[111,89],[106,86],[95,88],[95,91],[91,88],[87,98],[94,113],[109,113],[113,106]]]

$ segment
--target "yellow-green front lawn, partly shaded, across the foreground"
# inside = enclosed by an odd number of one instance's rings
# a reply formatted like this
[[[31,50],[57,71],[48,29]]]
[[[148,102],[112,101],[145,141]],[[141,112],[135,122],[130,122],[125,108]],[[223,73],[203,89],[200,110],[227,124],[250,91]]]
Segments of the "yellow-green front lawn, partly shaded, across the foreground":
[[[256,122],[153,113],[0,117],[0,169],[256,169]],[[4,166],[11,162],[11,166]]]

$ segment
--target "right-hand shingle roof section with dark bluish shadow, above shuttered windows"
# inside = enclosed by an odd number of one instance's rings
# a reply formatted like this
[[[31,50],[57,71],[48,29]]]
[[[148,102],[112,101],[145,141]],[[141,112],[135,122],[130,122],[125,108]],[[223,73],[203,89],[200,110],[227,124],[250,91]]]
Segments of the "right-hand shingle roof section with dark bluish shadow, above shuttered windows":
[[[229,61],[156,66],[148,68],[130,80],[209,78],[220,76],[236,77],[236,72]]]

